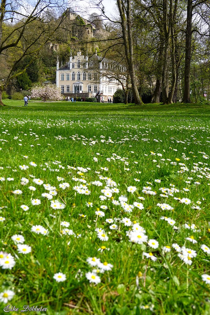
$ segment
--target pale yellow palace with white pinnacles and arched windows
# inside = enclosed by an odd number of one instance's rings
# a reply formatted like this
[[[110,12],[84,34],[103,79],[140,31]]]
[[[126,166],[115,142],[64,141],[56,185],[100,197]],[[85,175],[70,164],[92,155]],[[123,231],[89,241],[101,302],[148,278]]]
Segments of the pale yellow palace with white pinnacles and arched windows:
[[[123,70],[123,69],[122,69]],[[63,66],[57,61],[56,85],[66,97],[96,97],[98,101],[107,101],[116,89],[121,88],[118,80],[111,75],[116,71],[116,64],[97,54],[90,58],[77,52],[70,56]]]

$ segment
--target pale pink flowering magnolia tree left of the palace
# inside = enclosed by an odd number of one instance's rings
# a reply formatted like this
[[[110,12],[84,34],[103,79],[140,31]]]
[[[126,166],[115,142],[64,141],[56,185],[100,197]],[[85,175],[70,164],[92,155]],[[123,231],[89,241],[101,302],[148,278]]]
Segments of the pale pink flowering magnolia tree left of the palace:
[[[31,98],[42,98],[46,100],[62,100],[60,88],[56,84],[43,84],[42,86],[35,86],[31,91]]]

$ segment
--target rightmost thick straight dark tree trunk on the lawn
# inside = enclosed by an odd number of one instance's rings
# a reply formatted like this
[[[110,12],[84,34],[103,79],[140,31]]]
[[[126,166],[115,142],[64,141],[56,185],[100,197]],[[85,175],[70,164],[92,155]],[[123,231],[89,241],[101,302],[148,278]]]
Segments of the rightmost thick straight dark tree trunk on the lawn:
[[[187,0],[187,26],[186,26],[186,31],[185,31],[183,103],[190,103],[191,42],[192,42],[192,0]]]

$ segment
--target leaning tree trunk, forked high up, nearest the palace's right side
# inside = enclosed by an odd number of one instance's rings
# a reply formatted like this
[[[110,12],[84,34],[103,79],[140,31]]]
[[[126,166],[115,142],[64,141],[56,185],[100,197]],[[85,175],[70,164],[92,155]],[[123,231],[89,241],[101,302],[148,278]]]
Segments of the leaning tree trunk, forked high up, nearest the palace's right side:
[[[126,7],[127,4],[127,7]],[[117,6],[119,9],[121,17],[121,26],[122,26],[122,37],[123,44],[125,46],[125,55],[128,64],[128,70],[131,79],[131,85],[133,90],[133,97],[136,105],[143,105],[143,102],[139,96],[137,84],[136,84],[136,75],[134,70],[134,60],[133,60],[133,34],[131,27],[131,1],[126,0],[117,0]]]

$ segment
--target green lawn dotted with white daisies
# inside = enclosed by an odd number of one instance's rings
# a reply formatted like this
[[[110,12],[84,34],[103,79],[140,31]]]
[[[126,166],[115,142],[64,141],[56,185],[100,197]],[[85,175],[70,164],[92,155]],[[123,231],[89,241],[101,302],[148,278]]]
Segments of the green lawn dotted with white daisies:
[[[4,103],[0,314],[208,315],[210,107]]]

